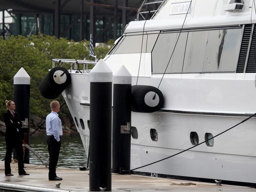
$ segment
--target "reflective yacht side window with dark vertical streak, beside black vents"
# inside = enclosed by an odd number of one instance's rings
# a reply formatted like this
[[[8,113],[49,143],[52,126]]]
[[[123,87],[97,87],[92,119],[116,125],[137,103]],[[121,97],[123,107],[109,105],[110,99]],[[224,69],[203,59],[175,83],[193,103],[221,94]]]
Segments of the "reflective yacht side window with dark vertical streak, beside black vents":
[[[234,72],[241,35],[240,28],[189,32],[183,72]]]

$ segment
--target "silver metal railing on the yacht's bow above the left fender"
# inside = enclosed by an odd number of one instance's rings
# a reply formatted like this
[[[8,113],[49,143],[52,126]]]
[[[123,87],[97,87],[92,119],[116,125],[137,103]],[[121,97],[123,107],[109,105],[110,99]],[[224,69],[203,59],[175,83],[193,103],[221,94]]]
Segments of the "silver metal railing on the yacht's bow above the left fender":
[[[75,70],[76,72],[82,72],[82,73],[89,73],[88,65],[96,65],[98,62],[97,59],[95,61],[88,61],[88,60],[76,60],[76,59],[52,59],[52,68],[56,66],[56,63],[58,63],[58,66],[62,66],[63,63],[69,63],[69,71],[70,73],[72,70]],[[79,65],[82,65],[82,71],[79,68]]]

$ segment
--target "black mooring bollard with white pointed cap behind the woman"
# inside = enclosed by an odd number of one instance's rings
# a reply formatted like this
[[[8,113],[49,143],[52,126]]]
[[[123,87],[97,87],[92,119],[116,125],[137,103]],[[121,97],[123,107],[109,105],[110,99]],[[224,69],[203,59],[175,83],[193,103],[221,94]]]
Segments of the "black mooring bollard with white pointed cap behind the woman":
[[[24,140],[24,135],[26,136],[26,143],[30,144],[30,76],[24,70],[24,68],[20,68],[17,74],[13,77],[13,85],[14,85],[14,102],[16,105],[15,111],[19,113],[20,120],[22,121],[22,128],[20,128],[20,137]],[[29,150],[25,149],[24,154],[24,163],[29,163],[30,161],[30,153]],[[13,159],[17,159],[17,152],[14,150]]]

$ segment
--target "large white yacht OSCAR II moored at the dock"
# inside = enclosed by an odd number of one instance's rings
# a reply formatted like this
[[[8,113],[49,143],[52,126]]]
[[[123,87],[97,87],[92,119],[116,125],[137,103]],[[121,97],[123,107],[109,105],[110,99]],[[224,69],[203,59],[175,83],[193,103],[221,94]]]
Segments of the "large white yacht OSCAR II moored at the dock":
[[[131,169],[191,148],[256,113],[255,7],[254,0],[163,0],[152,18],[138,13],[126,26],[103,60],[113,74],[124,65],[132,85],[159,87],[164,98],[158,111],[132,112]],[[86,67],[95,62],[54,59],[53,67],[59,63],[76,63],[62,95],[88,153]],[[256,183],[255,135],[252,117],[136,171]]]

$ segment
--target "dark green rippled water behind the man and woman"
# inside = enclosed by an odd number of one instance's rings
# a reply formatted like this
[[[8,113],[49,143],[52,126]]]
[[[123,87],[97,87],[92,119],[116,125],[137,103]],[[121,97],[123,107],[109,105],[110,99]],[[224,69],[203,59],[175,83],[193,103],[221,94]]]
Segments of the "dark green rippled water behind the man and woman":
[[[49,159],[46,137],[30,137],[30,147],[37,151],[40,155]],[[0,161],[4,159],[6,153],[6,143],[4,137],[0,137]],[[41,161],[30,152],[30,163],[41,164]],[[61,150],[59,153],[58,166],[67,168],[79,168],[79,166],[87,165],[87,157],[83,148],[82,140],[79,135],[73,137],[61,138]]]

